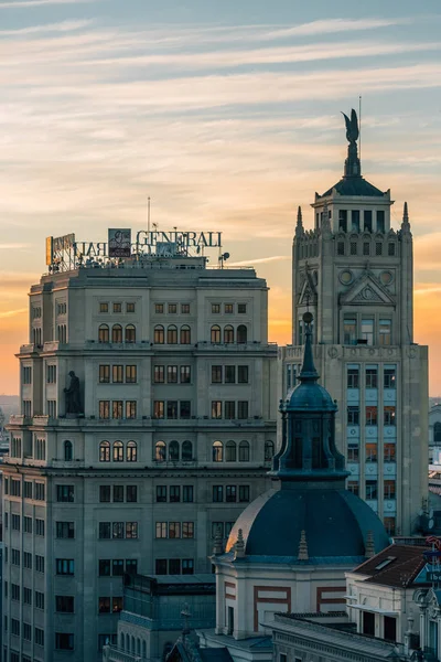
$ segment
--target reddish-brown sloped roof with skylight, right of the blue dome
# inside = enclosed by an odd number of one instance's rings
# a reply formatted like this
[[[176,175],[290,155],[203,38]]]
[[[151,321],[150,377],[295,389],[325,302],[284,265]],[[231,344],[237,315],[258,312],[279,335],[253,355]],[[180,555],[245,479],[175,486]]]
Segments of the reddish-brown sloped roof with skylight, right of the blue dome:
[[[362,563],[353,572],[359,575],[368,575],[365,581],[369,584],[408,587],[411,586],[427,563],[423,557],[426,549],[430,549],[430,547],[389,545],[376,556]],[[388,559],[390,559],[390,563],[381,567],[381,564]]]

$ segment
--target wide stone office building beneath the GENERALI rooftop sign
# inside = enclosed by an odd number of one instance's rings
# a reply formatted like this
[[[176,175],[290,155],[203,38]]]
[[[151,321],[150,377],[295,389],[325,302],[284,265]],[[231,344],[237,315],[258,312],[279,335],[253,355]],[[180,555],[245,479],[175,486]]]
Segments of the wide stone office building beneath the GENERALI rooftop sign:
[[[277,348],[254,269],[169,249],[52,264],[30,291],[3,467],[8,662],[94,660],[123,573],[209,573],[268,485]]]

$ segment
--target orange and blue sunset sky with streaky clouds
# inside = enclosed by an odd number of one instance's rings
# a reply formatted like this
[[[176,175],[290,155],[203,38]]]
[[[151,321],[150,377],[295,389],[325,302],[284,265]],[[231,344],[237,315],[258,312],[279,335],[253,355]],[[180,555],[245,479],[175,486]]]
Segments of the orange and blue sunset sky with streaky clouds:
[[[421,7],[422,9],[419,9]],[[107,227],[224,233],[268,279],[290,340],[295,210],[346,151],[363,97],[363,173],[409,203],[416,341],[441,394],[439,0],[0,0],[0,393],[18,393],[44,237]]]

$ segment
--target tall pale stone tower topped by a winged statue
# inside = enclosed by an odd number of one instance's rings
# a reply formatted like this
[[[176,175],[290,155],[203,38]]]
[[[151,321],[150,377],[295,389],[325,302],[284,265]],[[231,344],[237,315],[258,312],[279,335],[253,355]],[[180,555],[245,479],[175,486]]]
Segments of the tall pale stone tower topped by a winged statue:
[[[343,177],[315,193],[312,223],[299,207],[292,245],[292,346],[281,351],[282,395],[295,385],[306,327],[321,383],[340,403],[336,446],[347,487],[390,534],[419,533],[427,496],[428,349],[413,338],[413,254],[407,202],[362,175],[355,110],[345,117]]]

